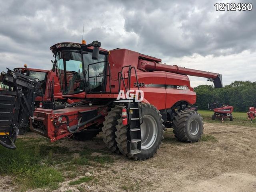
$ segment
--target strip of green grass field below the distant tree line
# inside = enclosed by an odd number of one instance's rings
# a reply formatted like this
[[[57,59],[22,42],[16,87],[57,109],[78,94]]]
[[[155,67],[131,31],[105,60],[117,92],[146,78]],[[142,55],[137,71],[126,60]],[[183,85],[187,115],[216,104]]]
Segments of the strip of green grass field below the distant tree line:
[[[209,122],[209,123],[222,123],[221,119],[215,119],[214,121],[212,120],[212,115],[214,112],[212,111],[201,111],[198,110],[198,113],[201,114],[201,116],[204,118],[204,122]],[[256,120],[253,120],[252,123],[250,120],[248,120],[248,116],[246,112],[233,112],[233,121],[230,121],[228,118],[224,119],[223,124],[225,125],[240,125],[240,126],[246,126],[246,127],[256,127]]]

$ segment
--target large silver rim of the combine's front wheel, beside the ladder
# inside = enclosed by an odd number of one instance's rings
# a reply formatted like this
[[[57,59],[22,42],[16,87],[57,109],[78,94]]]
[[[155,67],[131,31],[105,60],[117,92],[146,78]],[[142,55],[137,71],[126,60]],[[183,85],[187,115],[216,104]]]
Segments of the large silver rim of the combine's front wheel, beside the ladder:
[[[140,125],[141,129],[141,149],[149,149],[156,142],[157,137],[157,123],[151,115],[143,116],[143,123]]]

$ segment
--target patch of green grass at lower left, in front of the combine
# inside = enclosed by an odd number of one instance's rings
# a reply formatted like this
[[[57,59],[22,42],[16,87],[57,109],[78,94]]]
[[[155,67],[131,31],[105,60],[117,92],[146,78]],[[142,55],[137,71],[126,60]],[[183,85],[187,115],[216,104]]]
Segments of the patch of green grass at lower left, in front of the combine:
[[[81,151],[70,151],[67,147],[58,146],[58,142],[50,143],[43,137],[20,138],[16,141],[16,146],[16,150],[0,146],[0,177],[12,176],[17,186],[15,191],[36,188],[55,190],[60,182],[79,175],[78,171],[81,168],[86,168],[88,165],[97,168],[106,167],[101,165],[114,162],[106,151],[87,147]],[[94,152],[101,155],[93,155]],[[74,153],[78,155],[74,157]],[[67,170],[68,175],[64,176]],[[92,178],[94,177],[83,177],[71,184],[88,182]]]

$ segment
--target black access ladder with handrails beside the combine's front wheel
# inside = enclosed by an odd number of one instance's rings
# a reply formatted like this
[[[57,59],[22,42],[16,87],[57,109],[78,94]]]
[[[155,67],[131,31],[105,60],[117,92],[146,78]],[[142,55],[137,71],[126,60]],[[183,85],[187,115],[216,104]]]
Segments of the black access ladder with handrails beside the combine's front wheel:
[[[124,68],[128,68],[128,76],[123,77],[122,72]],[[136,73],[136,69],[134,67],[124,66],[122,67],[122,71],[118,73],[118,82],[119,82],[119,91],[121,87],[121,80],[124,86],[124,92],[126,93],[128,90],[130,90],[130,81],[131,81],[131,72],[134,70],[136,81],[138,84],[138,90],[140,90],[139,83],[138,83],[138,77]],[[127,79],[127,82],[125,83],[125,79]],[[127,134],[127,152],[130,153],[130,155],[135,155],[138,153],[141,153],[141,127],[140,125],[143,123],[142,119],[142,105],[141,102],[136,102],[135,98],[124,100],[124,105],[127,110],[127,116],[128,116],[128,125],[126,127],[126,134]]]

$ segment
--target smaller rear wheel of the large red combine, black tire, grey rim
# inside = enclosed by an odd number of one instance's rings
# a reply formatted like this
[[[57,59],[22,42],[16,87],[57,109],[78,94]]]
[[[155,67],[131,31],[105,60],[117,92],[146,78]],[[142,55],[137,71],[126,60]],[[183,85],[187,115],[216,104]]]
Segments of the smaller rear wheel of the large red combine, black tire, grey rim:
[[[203,124],[203,118],[196,111],[181,111],[174,117],[173,133],[178,140],[192,143],[201,139]]]

